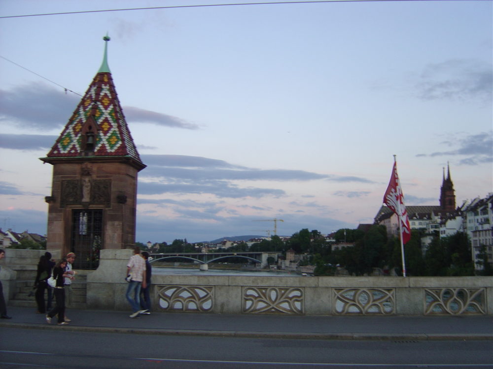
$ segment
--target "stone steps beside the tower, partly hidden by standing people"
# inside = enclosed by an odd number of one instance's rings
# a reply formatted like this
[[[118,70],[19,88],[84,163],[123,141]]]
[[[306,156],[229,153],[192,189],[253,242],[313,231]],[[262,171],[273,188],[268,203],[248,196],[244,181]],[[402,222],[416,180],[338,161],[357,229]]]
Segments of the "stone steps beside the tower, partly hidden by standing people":
[[[79,271],[77,271],[79,272]],[[81,271],[84,272],[84,271]],[[15,291],[12,299],[9,300],[9,306],[16,307],[32,307],[36,310],[36,300],[35,300],[35,289],[33,288],[32,279],[26,280],[16,280],[15,281]],[[73,303],[70,308],[73,309],[86,309],[86,291],[87,291],[87,275],[83,273],[79,273],[76,275],[75,280],[72,281],[72,293],[73,293]],[[45,300],[47,295],[45,293]],[[53,304],[55,301],[53,300]]]

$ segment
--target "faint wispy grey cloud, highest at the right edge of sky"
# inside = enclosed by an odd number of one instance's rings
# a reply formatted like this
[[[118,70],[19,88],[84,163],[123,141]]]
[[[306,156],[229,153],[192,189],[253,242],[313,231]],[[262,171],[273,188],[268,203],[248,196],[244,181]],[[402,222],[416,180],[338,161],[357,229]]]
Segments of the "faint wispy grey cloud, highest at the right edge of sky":
[[[451,99],[491,101],[493,72],[489,63],[453,59],[428,64],[417,84],[425,100]]]

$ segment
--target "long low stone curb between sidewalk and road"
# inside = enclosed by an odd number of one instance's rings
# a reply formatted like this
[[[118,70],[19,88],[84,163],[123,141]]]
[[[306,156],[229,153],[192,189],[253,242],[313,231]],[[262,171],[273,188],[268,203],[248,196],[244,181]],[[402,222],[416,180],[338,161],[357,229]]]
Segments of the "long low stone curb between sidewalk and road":
[[[297,332],[245,332],[245,331],[214,331],[214,330],[190,330],[190,329],[151,329],[151,328],[117,328],[95,326],[58,326],[49,324],[28,323],[0,323],[0,327],[40,330],[63,330],[70,332],[86,333],[120,333],[137,335],[163,335],[163,336],[209,336],[231,338],[271,338],[271,339],[319,339],[319,340],[395,340],[395,341],[457,341],[457,340],[493,340],[488,334],[428,334],[428,333],[398,333],[398,334],[374,334],[374,333],[297,333]]]

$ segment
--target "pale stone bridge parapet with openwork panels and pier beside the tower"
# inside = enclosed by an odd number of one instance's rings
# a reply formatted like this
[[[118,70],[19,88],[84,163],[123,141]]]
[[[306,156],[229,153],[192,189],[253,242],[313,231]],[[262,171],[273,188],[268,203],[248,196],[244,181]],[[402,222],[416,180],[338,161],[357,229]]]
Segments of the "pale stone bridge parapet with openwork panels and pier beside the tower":
[[[89,308],[129,310],[132,250],[101,250]],[[296,315],[493,315],[491,277],[255,277],[155,275],[154,311]]]

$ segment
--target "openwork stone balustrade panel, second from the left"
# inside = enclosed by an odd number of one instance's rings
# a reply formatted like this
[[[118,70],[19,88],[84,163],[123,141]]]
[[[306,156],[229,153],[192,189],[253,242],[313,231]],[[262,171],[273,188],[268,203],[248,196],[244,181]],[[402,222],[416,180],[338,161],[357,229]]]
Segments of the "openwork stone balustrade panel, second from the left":
[[[243,287],[243,312],[304,314],[305,290],[299,287]]]

